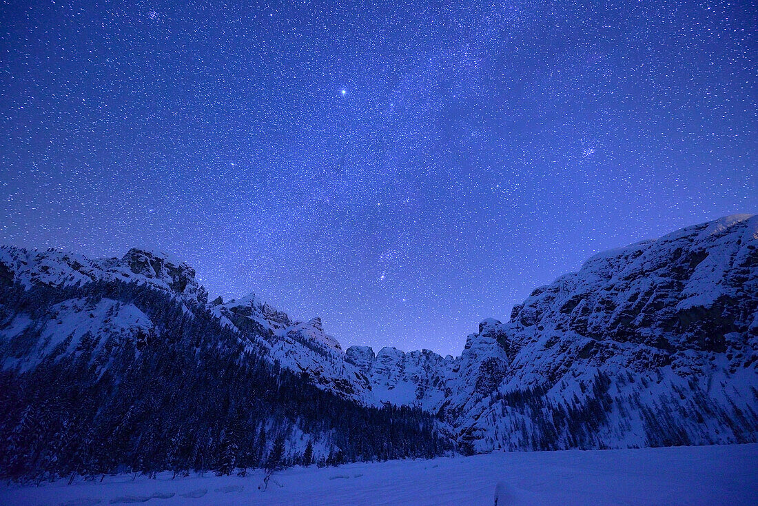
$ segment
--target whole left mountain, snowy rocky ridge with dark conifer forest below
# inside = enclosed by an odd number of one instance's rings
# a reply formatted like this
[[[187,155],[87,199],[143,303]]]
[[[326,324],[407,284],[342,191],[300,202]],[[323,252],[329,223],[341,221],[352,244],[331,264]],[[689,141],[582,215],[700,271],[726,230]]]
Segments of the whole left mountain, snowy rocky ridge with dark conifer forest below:
[[[320,320],[252,296],[206,300],[163,253],[0,249],[0,476],[230,473],[451,447],[428,413],[356,402],[352,385],[368,381],[344,379],[359,369]]]

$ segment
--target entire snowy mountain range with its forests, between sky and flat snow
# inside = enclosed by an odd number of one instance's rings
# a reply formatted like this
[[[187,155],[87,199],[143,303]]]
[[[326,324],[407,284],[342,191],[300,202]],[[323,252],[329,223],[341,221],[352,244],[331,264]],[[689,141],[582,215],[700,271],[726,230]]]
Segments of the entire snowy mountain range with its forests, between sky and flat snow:
[[[756,216],[593,256],[509,321],[481,322],[459,357],[343,350],[321,319],[292,319],[255,294],[208,302],[193,269],[157,252],[3,247],[0,289],[8,476],[61,452],[106,470],[227,469],[451,443],[476,453],[758,441]],[[128,429],[117,421],[132,417]],[[42,440],[40,426],[52,427]],[[127,457],[104,462],[94,442],[111,448],[119,431]],[[74,435],[84,442],[41,456]]]

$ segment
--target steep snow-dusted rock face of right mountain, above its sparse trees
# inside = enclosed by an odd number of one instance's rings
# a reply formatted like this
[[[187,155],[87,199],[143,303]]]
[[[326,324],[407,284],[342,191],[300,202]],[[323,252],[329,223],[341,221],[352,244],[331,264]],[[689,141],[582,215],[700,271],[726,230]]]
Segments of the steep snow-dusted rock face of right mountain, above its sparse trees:
[[[723,356],[750,366],[758,338],[758,218],[684,228],[600,253],[537,288],[504,328],[518,343],[512,375],[548,381],[575,363],[700,376]],[[534,350],[561,350],[534,354]],[[518,355],[517,355],[518,356]]]

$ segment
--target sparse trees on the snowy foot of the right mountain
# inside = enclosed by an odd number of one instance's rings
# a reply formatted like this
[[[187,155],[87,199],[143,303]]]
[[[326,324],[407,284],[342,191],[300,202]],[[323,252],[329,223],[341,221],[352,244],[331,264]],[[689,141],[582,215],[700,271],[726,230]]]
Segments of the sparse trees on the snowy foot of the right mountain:
[[[618,448],[630,438],[646,447],[758,441],[758,413],[750,403],[735,402],[726,393],[714,397],[695,378],[656,394],[650,383],[657,385],[660,373],[656,379],[634,378],[630,372],[609,376],[598,370],[580,380],[581,395],[565,398],[551,396],[548,385],[496,392],[490,405],[499,408],[502,424],[492,442],[510,451],[552,451]],[[475,452],[486,437],[464,432],[462,451]]]

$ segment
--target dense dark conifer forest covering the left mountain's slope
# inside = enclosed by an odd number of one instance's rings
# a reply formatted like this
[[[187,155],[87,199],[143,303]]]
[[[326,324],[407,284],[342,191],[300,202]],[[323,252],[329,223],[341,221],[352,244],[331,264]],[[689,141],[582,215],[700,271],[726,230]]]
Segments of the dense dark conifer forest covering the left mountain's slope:
[[[88,334],[75,346],[68,336],[38,365],[3,369],[3,478],[231,473],[434,457],[451,446],[421,410],[363,407],[321,391],[265,360],[264,349],[243,343],[204,308],[136,284],[0,288],[0,325],[17,312],[33,319],[0,343],[0,363],[37,349],[54,304],[104,298],[133,304],[155,329],[136,339]]]

